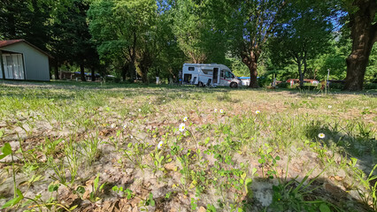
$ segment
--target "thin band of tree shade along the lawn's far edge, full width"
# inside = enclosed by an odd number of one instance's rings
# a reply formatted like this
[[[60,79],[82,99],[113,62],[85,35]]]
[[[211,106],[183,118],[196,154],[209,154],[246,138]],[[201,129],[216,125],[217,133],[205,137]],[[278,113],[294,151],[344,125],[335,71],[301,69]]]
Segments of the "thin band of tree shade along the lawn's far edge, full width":
[[[153,95],[166,95],[166,94],[177,94],[177,93],[212,93],[212,94],[224,94],[233,90],[252,90],[258,92],[266,92],[266,93],[280,93],[280,92],[288,92],[291,95],[325,95],[325,91],[321,91],[318,89],[298,89],[298,88],[277,88],[277,89],[266,89],[266,88],[258,88],[258,89],[250,89],[249,87],[239,87],[239,88],[230,88],[230,87],[196,87],[196,86],[181,86],[181,85],[155,85],[155,84],[142,84],[142,83],[101,83],[101,82],[81,82],[81,81],[50,81],[50,82],[33,82],[33,81],[14,81],[14,80],[2,80],[0,79],[0,93],[3,89],[7,91],[12,91],[12,88],[17,91],[18,89],[27,89],[27,88],[41,88],[43,89],[61,89],[63,91],[68,92],[76,92],[76,91],[114,91],[119,92],[118,89],[125,88],[125,92],[129,90],[135,89],[135,93],[133,96],[138,95],[145,95],[145,93],[150,93]],[[151,91],[142,91],[142,88],[150,88]],[[120,92],[123,92],[120,90]],[[11,92],[12,96],[17,96],[15,92]],[[346,92],[341,90],[329,90],[327,92],[328,95],[377,95],[376,90],[364,90],[360,92]],[[2,94],[2,95],[10,95],[10,94]],[[177,97],[180,95],[177,95]],[[59,95],[52,95],[51,97],[58,98]],[[63,96],[63,98],[71,98],[70,96]],[[226,99],[227,100],[227,99]]]

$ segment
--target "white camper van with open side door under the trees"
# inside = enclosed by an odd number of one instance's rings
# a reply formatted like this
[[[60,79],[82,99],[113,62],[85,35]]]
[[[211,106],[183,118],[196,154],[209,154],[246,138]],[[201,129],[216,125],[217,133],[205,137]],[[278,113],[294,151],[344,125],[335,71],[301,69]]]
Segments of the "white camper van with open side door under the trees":
[[[242,86],[240,79],[224,64],[183,64],[184,84],[204,86]]]

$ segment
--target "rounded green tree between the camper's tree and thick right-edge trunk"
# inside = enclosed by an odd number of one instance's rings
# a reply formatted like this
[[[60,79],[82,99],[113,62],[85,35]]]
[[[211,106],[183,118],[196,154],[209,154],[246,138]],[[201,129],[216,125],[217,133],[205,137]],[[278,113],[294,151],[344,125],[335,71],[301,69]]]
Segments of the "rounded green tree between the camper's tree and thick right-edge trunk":
[[[332,24],[330,12],[312,1],[293,1],[281,12],[276,34],[269,42],[273,62],[287,64],[289,59],[297,64],[300,87],[308,72],[308,62],[324,54],[331,47]]]

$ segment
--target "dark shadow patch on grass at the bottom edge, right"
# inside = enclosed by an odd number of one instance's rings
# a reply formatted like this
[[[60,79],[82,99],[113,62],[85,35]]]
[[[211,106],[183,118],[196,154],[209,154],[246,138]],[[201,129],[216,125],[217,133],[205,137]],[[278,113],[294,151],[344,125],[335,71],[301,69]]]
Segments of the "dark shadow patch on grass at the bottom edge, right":
[[[321,177],[314,181],[285,178],[274,181],[280,183],[273,185],[265,178],[254,178],[252,187],[258,187],[259,183],[270,186],[251,190],[243,200],[243,211],[374,211],[358,198],[357,192],[351,195],[350,190],[339,186],[341,181]],[[263,206],[261,201],[268,206]]]

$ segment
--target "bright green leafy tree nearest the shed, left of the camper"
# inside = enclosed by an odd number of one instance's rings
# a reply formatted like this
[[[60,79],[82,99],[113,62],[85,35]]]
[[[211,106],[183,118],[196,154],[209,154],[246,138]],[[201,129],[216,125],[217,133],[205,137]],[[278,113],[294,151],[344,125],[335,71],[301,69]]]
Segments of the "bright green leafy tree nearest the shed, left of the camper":
[[[90,33],[98,43],[100,57],[129,64],[131,79],[134,79],[138,48],[146,41],[142,36],[149,35],[156,9],[153,0],[101,0],[93,3],[88,11]],[[139,52],[141,55],[147,57]]]

